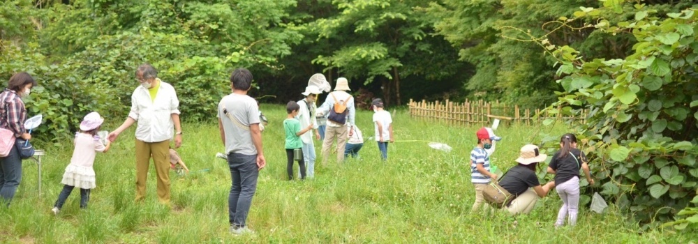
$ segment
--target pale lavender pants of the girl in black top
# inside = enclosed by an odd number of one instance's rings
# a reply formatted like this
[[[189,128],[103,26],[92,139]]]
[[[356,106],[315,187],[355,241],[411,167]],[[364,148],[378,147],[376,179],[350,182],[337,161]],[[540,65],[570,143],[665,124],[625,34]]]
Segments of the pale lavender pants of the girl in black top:
[[[565,225],[567,213],[570,214],[568,223],[574,226],[574,224],[577,224],[577,211],[579,210],[579,176],[574,176],[569,181],[557,185],[555,190],[560,195],[560,199],[563,199],[563,206],[558,212],[558,220],[555,222],[555,226]]]

